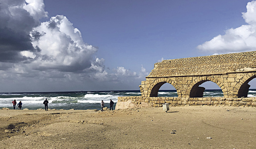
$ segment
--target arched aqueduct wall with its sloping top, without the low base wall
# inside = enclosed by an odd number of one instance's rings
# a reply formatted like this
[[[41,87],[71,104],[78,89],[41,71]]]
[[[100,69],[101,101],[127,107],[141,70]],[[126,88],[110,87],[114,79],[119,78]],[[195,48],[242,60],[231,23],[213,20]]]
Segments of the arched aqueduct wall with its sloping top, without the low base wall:
[[[155,63],[154,69],[141,82],[143,97],[157,97],[160,87],[169,83],[178,97],[202,97],[204,82],[216,83],[225,98],[247,97],[247,83],[256,78],[256,51],[213,56],[169,59]]]

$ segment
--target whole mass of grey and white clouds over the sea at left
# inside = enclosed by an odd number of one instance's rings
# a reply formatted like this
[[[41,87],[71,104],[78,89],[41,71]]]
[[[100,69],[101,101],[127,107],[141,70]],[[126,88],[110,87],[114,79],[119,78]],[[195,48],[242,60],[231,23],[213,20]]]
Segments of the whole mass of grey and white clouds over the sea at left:
[[[64,86],[70,85],[77,86],[70,90],[86,85],[89,90],[96,82],[108,84],[147,76],[143,67],[138,73],[122,66],[106,69],[105,59],[96,56],[99,49],[84,42],[67,17],[49,17],[44,7],[43,0],[0,0],[0,79],[6,87],[15,84],[15,78],[30,90],[42,90],[38,84],[54,86],[47,90],[68,90]],[[30,86],[25,82],[34,83]]]

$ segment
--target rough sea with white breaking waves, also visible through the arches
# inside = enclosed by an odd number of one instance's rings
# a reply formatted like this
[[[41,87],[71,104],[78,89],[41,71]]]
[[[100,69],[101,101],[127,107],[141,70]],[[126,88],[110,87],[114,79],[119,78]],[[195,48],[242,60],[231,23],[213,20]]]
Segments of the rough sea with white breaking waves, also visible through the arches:
[[[44,100],[49,101],[49,109],[63,110],[100,110],[103,100],[109,107],[110,99],[115,109],[118,96],[141,96],[140,90],[120,91],[77,91],[77,92],[33,92],[33,93],[0,93],[0,109],[7,107],[13,109],[12,101],[22,102],[22,109],[44,109]],[[177,97],[176,90],[159,90],[158,97]],[[203,97],[223,97],[221,90],[205,90]],[[248,97],[256,97],[256,89],[250,89]],[[17,106],[16,106],[17,109]]]

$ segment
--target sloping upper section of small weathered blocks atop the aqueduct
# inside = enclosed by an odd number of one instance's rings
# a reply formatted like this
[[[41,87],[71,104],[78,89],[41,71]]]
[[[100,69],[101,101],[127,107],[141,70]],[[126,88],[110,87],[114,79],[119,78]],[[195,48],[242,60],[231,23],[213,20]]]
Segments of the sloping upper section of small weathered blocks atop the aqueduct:
[[[163,60],[155,63],[148,77],[223,74],[244,70],[256,70],[256,51]]]

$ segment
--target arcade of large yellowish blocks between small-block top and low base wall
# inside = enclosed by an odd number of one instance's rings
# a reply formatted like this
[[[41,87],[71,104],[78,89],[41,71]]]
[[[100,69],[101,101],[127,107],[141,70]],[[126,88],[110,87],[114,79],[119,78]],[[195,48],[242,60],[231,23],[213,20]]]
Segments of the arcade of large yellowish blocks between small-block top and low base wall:
[[[247,95],[243,93],[248,92],[250,86],[248,86],[247,83],[255,77],[255,72],[224,73],[204,76],[154,77],[147,78],[146,81],[141,82],[140,92],[143,97],[156,97],[159,88],[164,83],[169,83],[177,90],[178,97],[189,98],[195,97],[191,95],[198,90],[200,84],[211,81],[221,88],[225,98],[246,97]],[[240,94],[239,89],[241,89]]]

